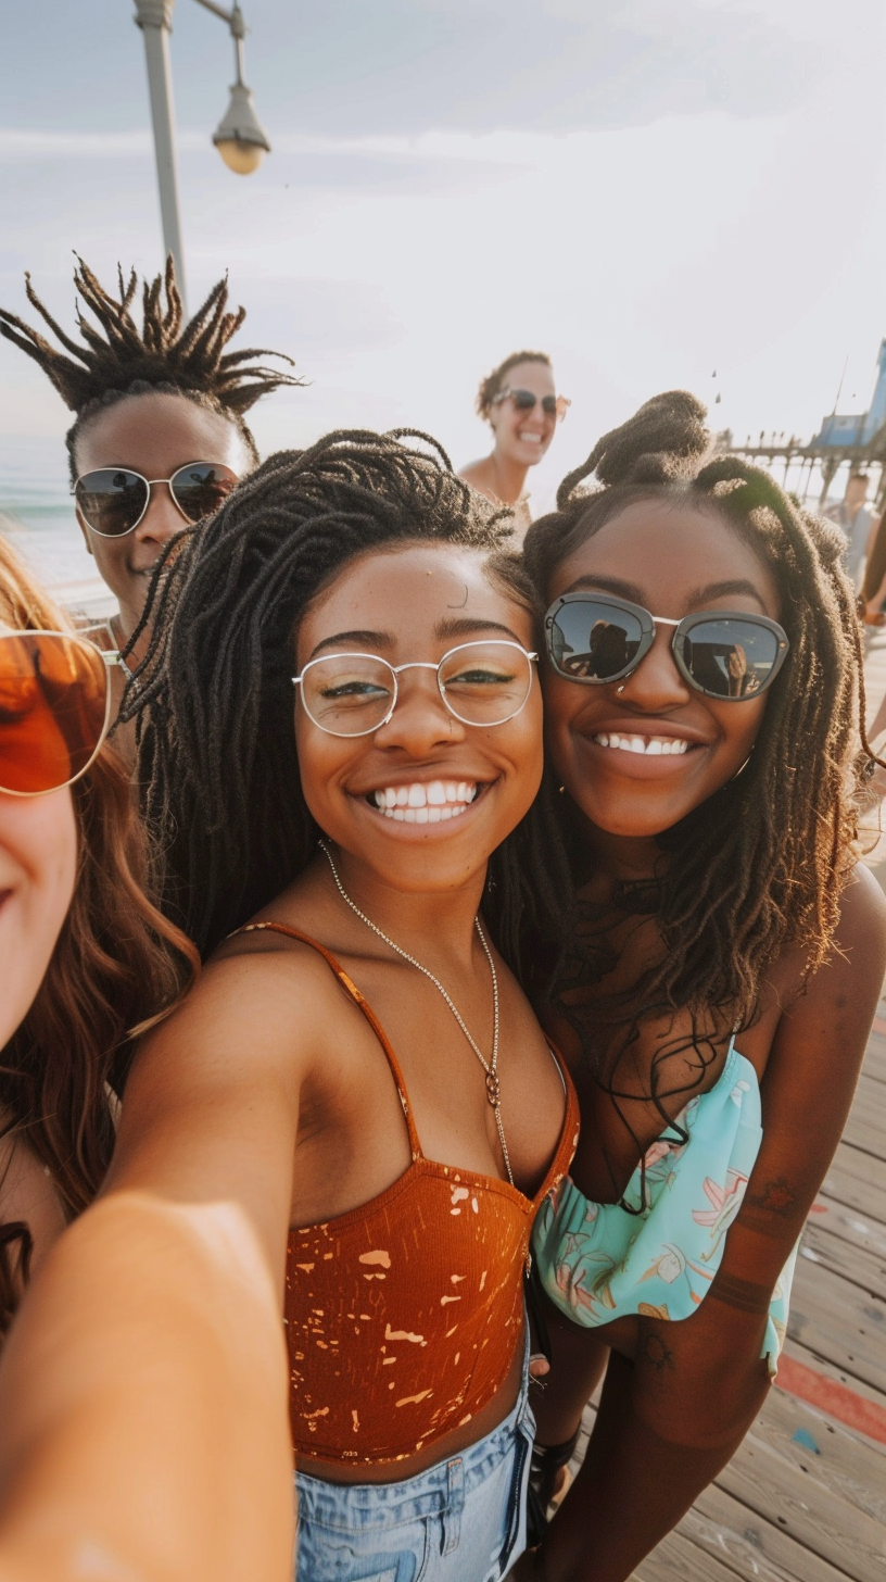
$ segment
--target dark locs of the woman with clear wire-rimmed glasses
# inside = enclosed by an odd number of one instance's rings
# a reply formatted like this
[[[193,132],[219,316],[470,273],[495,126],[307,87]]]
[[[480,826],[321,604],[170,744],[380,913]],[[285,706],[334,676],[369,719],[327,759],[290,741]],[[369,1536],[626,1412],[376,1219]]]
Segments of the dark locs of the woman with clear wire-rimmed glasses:
[[[422,441],[432,452],[410,443]],[[168,853],[168,906],[203,952],[297,873],[320,831],[294,740],[294,639],[309,604],[356,555],[416,541],[464,544],[538,615],[503,552],[511,513],[464,484],[434,440],[335,432],[271,456],[222,509],[166,547],[144,622],[147,657],[123,698],[138,717],[146,815]],[[133,636],[138,641],[138,633]],[[527,905],[554,889],[533,846],[536,812],[490,864],[487,919],[514,960]],[[525,826],[525,827],[524,827]]]

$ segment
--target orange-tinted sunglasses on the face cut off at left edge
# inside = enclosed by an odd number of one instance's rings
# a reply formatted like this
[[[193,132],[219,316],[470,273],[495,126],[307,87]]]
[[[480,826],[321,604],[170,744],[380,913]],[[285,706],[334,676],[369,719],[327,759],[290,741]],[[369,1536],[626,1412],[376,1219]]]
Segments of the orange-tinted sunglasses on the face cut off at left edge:
[[[108,731],[117,663],[63,631],[0,631],[2,793],[43,796],[85,774]]]

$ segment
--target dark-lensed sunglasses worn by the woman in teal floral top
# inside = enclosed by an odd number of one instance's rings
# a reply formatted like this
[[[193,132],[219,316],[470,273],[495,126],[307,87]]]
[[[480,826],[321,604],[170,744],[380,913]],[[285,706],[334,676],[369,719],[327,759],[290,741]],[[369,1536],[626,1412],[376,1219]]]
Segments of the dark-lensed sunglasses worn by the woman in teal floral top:
[[[767,615],[702,609],[668,620],[608,593],[563,593],[544,617],[544,639],[558,676],[606,687],[636,671],[657,626],[674,628],[671,652],[683,680],[721,702],[759,698],[788,657],[788,636]]]

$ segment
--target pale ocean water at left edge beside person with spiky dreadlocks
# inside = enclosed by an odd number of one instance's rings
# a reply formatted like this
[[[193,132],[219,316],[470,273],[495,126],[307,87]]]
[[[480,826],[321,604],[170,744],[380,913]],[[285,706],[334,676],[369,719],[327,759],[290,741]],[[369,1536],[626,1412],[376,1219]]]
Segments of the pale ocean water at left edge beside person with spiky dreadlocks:
[[[0,532],[62,604],[111,612],[114,598],[74,519],[63,440],[0,435]]]

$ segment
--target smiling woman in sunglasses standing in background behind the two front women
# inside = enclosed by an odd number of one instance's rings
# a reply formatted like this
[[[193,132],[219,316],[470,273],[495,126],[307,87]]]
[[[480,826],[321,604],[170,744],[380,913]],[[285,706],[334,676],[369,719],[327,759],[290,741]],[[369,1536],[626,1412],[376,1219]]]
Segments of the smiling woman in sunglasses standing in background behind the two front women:
[[[566,397],[557,396],[546,351],[511,353],[479,386],[476,411],[495,443],[483,460],[462,467],[460,476],[495,505],[513,506],[519,538],[532,522],[527,473],[546,454],[568,407]]]

